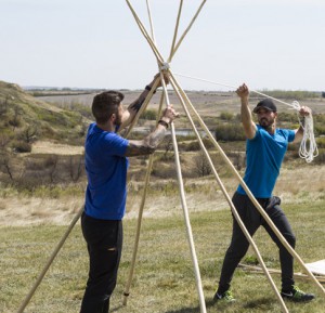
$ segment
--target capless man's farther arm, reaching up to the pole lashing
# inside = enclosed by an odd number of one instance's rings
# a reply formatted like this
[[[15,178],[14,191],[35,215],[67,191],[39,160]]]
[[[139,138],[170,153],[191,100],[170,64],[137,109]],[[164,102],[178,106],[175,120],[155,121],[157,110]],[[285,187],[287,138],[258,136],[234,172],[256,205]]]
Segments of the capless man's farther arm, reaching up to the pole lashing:
[[[168,83],[169,82],[169,79],[168,79],[168,76],[167,74],[164,75],[164,78],[165,78],[165,82]],[[125,110],[123,115],[122,115],[122,123],[119,128],[119,130],[122,130],[123,128],[126,128],[127,126],[129,126],[134,117],[136,116],[136,113],[139,112],[139,109],[141,108],[142,104],[144,103],[147,94],[150,93],[150,91],[152,90],[152,88],[154,87],[154,83],[156,80],[159,80],[158,81],[158,84],[157,84],[157,88],[161,87],[161,81],[160,81],[160,74],[156,74],[154,79],[152,80],[152,82],[150,82],[144,91],[140,94],[140,96],[133,101],[129,106],[128,108]],[[154,91],[156,92],[156,91]]]

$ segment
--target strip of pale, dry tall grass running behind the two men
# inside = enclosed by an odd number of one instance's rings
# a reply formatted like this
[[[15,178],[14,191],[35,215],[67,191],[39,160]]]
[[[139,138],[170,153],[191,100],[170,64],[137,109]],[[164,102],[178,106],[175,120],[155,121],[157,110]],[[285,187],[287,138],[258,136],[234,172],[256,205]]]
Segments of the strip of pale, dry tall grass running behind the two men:
[[[233,177],[222,178],[232,195],[237,186]],[[184,180],[186,204],[190,212],[229,209],[229,205],[214,178]],[[299,161],[299,166],[284,165],[274,194],[283,204],[323,201],[325,190],[325,167],[310,166]],[[0,226],[30,225],[39,223],[67,224],[83,205],[82,188],[63,194],[61,191],[37,196],[23,195],[13,191],[2,191],[0,205]],[[138,218],[143,193],[143,181],[129,182],[129,197],[126,219]],[[168,206],[166,201],[168,199]],[[144,217],[166,218],[182,214],[179,184],[173,180],[153,180],[150,184]]]

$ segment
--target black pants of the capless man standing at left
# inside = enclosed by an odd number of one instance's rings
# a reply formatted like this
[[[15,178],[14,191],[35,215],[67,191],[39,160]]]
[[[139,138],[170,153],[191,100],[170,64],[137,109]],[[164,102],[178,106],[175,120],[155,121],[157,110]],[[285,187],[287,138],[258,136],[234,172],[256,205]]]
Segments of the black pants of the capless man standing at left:
[[[80,313],[107,313],[121,256],[122,222],[83,213],[81,227],[89,253],[89,277]]]

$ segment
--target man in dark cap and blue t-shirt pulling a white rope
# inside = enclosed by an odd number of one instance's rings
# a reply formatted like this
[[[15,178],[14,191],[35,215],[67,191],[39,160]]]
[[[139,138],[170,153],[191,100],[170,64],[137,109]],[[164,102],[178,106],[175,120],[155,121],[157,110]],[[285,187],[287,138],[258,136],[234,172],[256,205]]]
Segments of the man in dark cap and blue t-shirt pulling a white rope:
[[[285,213],[280,207],[280,198],[273,196],[272,192],[288,143],[301,140],[303,128],[300,127],[296,130],[276,128],[277,109],[270,99],[260,101],[253,108],[252,112],[257,115],[259,122],[256,125],[252,121],[251,112],[249,109],[249,90],[247,86],[244,83],[236,92],[242,102],[242,122],[247,138],[247,167],[244,181],[282,235],[289,245],[295,248],[296,237]],[[311,110],[309,107],[302,106],[299,113],[301,116],[307,116]],[[314,299],[314,295],[306,294],[295,286],[294,258],[280,242],[269,224],[263,220],[242,185],[238,186],[232,201],[250,235],[253,235],[259,226],[262,225],[277,245],[282,270],[282,297],[292,301],[310,301]],[[230,290],[231,281],[235,269],[246,255],[248,247],[249,242],[245,237],[237,221],[233,219],[232,242],[223,260],[219,286],[213,297],[214,301],[235,301]]]

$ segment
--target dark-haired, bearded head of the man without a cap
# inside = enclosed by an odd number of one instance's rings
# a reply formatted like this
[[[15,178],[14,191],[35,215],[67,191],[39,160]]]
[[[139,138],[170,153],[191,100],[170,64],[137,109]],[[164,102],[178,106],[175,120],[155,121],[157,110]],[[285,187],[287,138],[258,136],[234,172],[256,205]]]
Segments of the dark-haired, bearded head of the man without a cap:
[[[99,93],[92,101],[92,115],[96,122],[105,123],[112,114],[117,114],[118,106],[125,99],[125,95],[118,91],[109,90]]]

